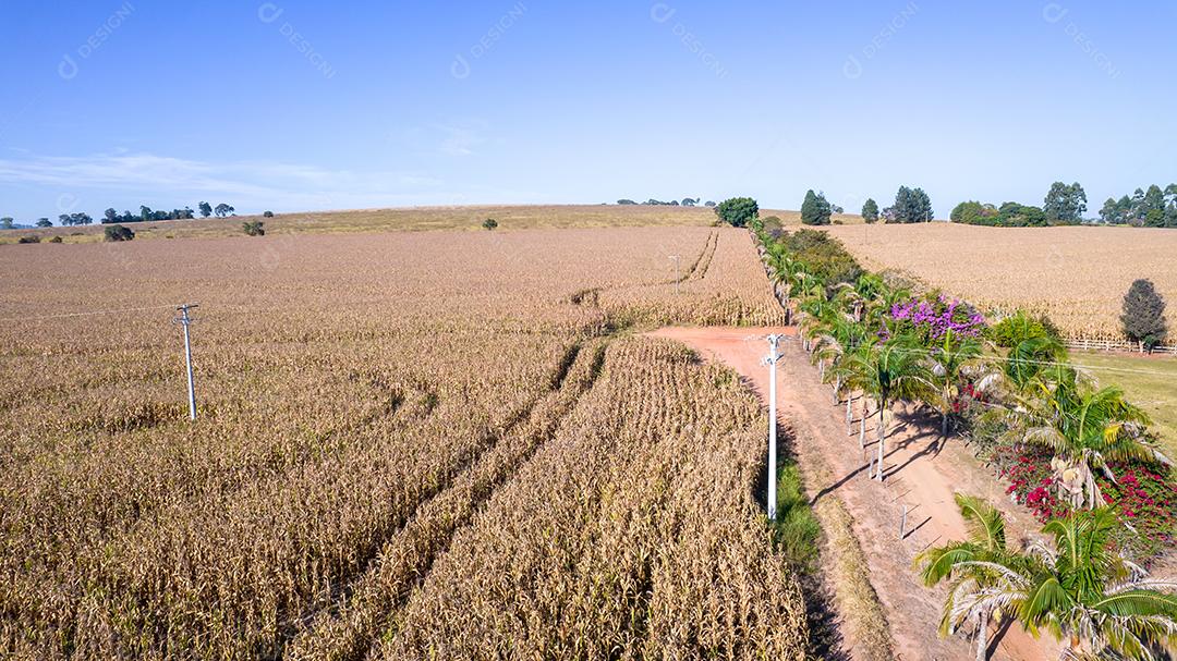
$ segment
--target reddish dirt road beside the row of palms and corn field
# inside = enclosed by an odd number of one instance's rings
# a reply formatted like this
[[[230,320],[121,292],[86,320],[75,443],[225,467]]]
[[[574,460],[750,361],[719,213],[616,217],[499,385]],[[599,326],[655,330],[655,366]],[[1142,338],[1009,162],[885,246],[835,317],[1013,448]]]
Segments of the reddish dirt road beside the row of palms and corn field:
[[[973,659],[976,649],[962,635],[939,639],[943,589],[924,588],[912,570],[912,559],[932,545],[963,539],[964,520],[953,492],[988,499],[1008,515],[1011,543],[1039,526],[1023,508],[1010,502],[1002,485],[972,456],[959,439],[942,443],[938,421],[916,412],[897,412],[889,420],[885,482],[866,476],[866,453],[877,453],[876,434],[867,421],[867,446],[858,445],[855,406],[853,432],[847,432],[845,405],[833,403],[833,393],[820,383],[817,369],[802,350],[796,328],[663,328],[654,336],[691,346],[710,360],[736,369],[764,398],[769,369],[760,365],[767,353],[764,338],[782,333],[785,359],[778,363],[777,398],[782,425],[793,430],[793,453],[800,462],[814,499],[836,494],[855,519],[855,534],[871,567],[870,581],[890,622],[896,655],[917,659]],[[943,445],[943,447],[940,447]],[[824,478],[824,479],[823,479]],[[907,507],[906,534],[899,538],[900,518]],[[991,640],[995,639],[991,634]],[[1035,640],[1013,627],[996,636],[990,659],[1037,661],[1056,659],[1058,648],[1049,639]],[[847,637],[853,654],[852,636]]]

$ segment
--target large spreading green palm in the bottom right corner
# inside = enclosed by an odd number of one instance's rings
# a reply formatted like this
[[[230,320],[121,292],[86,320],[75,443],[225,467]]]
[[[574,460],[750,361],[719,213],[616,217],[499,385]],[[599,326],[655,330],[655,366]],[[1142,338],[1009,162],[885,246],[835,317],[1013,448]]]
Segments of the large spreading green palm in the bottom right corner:
[[[950,594],[951,619],[1000,608],[1030,634],[1045,629],[1064,641],[1064,660],[1155,659],[1155,646],[1177,642],[1177,581],[1150,579],[1113,553],[1109,541],[1118,525],[1110,507],[1072,512],[1043,527],[1053,548],[1035,542],[1026,553],[942,559],[952,573],[992,577],[984,588]]]

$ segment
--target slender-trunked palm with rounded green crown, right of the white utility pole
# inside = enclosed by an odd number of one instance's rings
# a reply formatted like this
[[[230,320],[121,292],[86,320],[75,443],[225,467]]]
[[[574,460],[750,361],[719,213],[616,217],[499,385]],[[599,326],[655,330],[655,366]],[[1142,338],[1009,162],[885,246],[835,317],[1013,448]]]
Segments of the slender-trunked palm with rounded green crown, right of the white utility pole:
[[[923,361],[923,347],[910,335],[896,335],[886,342],[866,345],[846,358],[847,386],[870,395],[879,407],[879,452],[877,478],[883,481],[886,454],[887,406],[899,400],[923,396],[931,386],[931,374]]]

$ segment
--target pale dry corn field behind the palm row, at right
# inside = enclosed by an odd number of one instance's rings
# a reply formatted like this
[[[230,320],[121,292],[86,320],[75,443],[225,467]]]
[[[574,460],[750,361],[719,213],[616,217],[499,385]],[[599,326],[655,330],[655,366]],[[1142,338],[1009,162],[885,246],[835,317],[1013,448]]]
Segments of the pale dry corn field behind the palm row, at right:
[[[1121,305],[1152,280],[1177,328],[1177,233],[1126,227],[831,227],[864,266],[896,271],[990,313],[1045,313],[1069,338],[1122,340]]]

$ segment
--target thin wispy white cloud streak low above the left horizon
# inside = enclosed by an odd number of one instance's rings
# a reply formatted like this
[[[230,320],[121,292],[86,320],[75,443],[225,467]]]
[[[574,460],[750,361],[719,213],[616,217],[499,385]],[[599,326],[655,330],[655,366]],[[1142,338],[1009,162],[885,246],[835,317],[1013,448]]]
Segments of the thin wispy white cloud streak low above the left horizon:
[[[354,208],[450,196],[441,181],[412,172],[354,172],[272,161],[207,162],[149,153],[0,159],[0,183],[98,188],[145,198],[230,199],[240,209]]]

